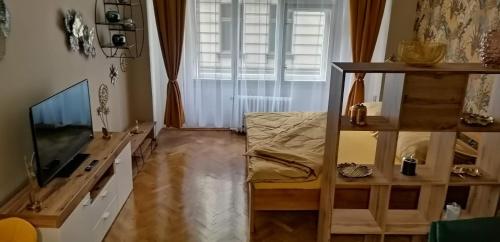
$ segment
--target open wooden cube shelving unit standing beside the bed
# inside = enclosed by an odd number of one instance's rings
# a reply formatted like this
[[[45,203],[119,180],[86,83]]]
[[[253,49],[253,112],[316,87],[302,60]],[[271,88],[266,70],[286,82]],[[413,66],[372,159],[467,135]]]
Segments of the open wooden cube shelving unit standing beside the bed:
[[[347,117],[342,116],[348,73],[385,74],[382,114],[368,117],[363,127],[351,125]],[[500,197],[500,123],[489,127],[469,127],[461,123],[471,74],[495,75],[498,80],[500,69],[484,68],[480,64],[440,64],[432,68],[401,63],[333,64],[318,241],[426,241],[430,223],[441,219],[447,192],[452,187],[468,189],[463,218],[495,216]],[[493,85],[488,115],[500,120],[498,81]],[[371,165],[373,176],[346,179],[337,174],[341,131],[378,132],[375,162]],[[417,176],[400,174],[400,165],[395,162],[400,131],[431,132],[425,164],[417,166]],[[461,132],[479,133],[475,166],[482,171],[482,177],[463,179],[451,175],[455,143]],[[337,190],[360,186],[369,187],[366,208],[334,205]],[[400,188],[418,191],[418,202],[412,209],[390,206],[391,191]]]

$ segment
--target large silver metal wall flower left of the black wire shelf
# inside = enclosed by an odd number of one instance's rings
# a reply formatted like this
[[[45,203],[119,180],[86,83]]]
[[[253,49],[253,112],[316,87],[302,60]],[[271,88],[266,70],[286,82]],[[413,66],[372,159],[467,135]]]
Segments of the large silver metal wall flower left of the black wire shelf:
[[[87,57],[95,57],[94,27],[90,28],[85,25],[82,15],[74,9],[64,14],[64,26],[70,49],[79,51]]]

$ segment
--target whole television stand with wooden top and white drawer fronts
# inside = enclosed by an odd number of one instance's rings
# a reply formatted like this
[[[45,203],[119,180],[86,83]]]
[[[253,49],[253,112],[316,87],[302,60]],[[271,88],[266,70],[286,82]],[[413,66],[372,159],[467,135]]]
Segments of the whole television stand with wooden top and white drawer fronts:
[[[101,242],[133,188],[130,147],[128,132],[112,133],[110,139],[93,139],[82,150],[90,156],[73,174],[55,178],[36,190],[27,184],[0,206],[0,219],[27,220],[37,228],[39,241]],[[99,162],[84,171],[93,160]],[[42,204],[40,211],[26,207],[33,191]],[[0,241],[4,240],[0,235]]]

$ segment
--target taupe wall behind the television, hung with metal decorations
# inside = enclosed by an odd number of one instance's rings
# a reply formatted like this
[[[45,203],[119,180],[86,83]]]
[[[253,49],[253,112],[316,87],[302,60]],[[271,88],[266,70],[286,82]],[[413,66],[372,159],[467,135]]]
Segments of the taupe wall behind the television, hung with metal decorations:
[[[25,181],[24,156],[33,152],[28,108],[88,79],[94,129],[102,127],[96,108],[98,87],[106,83],[110,91],[110,128],[122,131],[129,122],[129,82],[111,85],[109,67],[119,67],[119,59],[106,58],[99,46],[96,58],[86,58],[67,47],[63,12],[76,9],[85,23],[94,25],[95,1],[81,0],[7,0],[12,16],[12,31],[5,42],[6,55],[0,60],[0,203]],[[97,45],[97,40],[95,40]]]

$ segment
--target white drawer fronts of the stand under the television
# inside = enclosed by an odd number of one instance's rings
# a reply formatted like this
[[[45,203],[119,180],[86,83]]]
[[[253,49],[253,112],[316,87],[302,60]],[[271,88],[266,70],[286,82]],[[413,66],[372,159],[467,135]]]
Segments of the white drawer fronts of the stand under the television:
[[[90,193],[59,228],[39,228],[41,242],[99,242],[104,239],[132,191],[132,154],[130,143],[117,156],[111,176],[99,194]]]

